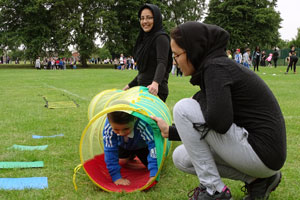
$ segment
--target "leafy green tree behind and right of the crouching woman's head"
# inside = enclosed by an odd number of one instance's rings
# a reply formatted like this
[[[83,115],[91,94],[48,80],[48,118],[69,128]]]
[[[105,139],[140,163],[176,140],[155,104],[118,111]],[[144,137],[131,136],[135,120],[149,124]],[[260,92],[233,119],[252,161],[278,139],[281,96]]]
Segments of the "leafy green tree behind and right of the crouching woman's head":
[[[279,42],[280,18],[277,0],[211,0],[205,23],[230,33],[229,48],[272,48]]]

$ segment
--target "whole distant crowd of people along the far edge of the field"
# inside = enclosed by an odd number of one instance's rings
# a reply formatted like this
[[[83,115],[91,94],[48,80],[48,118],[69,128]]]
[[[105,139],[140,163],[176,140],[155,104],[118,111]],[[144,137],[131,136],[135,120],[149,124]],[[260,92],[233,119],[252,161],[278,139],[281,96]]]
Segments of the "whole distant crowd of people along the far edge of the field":
[[[233,52],[233,53],[232,53]],[[256,46],[255,50],[251,52],[250,48],[240,49],[237,48],[234,51],[226,50],[226,54],[230,59],[234,59],[237,63],[241,65],[252,68],[254,71],[259,71],[259,66],[265,67],[277,67],[278,59],[280,57],[280,51],[277,47],[273,49],[268,55],[266,51],[261,50],[259,46]],[[20,58],[15,58],[14,61],[10,58],[10,56],[1,56],[0,64],[20,64]],[[124,54],[120,54],[120,57],[115,57],[114,59],[106,58],[104,60],[98,58],[90,58],[88,59],[90,64],[113,64],[115,69],[118,70],[137,70],[137,63],[134,60],[133,56],[124,56]],[[284,63],[287,63],[287,69],[285,74],[288,74],[289,70],[296,73],[298,57],[295,50],[295,46],[292,46],[289,55],[285,58]],[[77,68],[78,60],[75,58],[59,58],[59,57],[49,57],[41,60],[38,57],[34,64],[36,69],[61,69],[65,70],[67,65],[70,65],[71,69]],[[26,60],[24,60],[24,64],[26,64]],[[172,75],[182,76],[182,72],[178,65],[173,62],[172,65]]]

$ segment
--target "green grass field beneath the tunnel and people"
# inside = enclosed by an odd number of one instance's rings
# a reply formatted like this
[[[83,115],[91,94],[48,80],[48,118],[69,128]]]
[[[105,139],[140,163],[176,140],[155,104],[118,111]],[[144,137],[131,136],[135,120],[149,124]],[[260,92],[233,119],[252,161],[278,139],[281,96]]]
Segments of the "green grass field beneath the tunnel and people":
[[[260,68],[258,73],[270,86],[281,106],[286,121],[288,157],[282,169],[280,186],[271,200],[300,199],[300,75],[283,72],[285,67]],[[107,193],[95,186],[81,169],[76,176],[78,191],[72,183],[73,169],[80,164],[79,142],[88,123],[90,100],[100,91],[122,88],[136,71],[112,69],[79,69],[46,71],[31,69],[0,70],[0,161],[44,161],[44,168],[0,169],[0,178],[48,177],[48,189],[0,191],[0,199],[122,199],[181,200],[199,183],[197,178],[177,170],[169,156],[159,183],[148,192]],[[192,96],[198,87],[189,77],[170,76],[167,105],[172,110],[181,98]],[[66,101],[71,98],[78,108],[47,109],[45,101]],[[259,97],[257,97],[259,98]],[[32,135],[64,137],[32,139]],[[45,151],[8,149],[18,145],[49,145]],[[173,148],[180,144],[175,142]],[[172,149],[173,150],[173,149]],[[241,199],[242,182],[224,180],[234,199]]]

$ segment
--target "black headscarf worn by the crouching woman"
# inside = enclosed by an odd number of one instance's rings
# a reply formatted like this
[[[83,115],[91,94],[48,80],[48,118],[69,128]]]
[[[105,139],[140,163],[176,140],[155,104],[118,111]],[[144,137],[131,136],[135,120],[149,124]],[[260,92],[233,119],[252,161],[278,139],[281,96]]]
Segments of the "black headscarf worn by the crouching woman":
[[[187,58],[196,70],[192,75],[191,83],[199,84],[206,61],[211,58],[226,57],[229,33],[219,26],[200,22],[186,22],[178,28],[183,37],[181,48],[186,51]]]

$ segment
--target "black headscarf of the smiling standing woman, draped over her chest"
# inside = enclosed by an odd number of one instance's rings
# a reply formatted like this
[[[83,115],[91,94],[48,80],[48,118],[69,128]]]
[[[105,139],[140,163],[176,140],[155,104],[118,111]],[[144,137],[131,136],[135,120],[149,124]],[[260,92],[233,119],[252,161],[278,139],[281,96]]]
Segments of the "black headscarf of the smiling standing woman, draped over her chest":
[[[151,50],[150,47],[153,41],[160,35],[166,35],[169,38],[169,36],[163,29],[162,15],[159,8],[156,5],[145,4],[140,8],[138,12],[138,17],[141,17],[141,13],[145,8],[148,8],[152,11],[154,21],[153,27],[150,32],[144,32],[142,27],[140,27],[140,33],[134,46],[134,59],[137,62],[138,70],[140,72],[146,70],[148,55]]]

